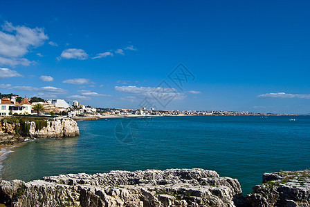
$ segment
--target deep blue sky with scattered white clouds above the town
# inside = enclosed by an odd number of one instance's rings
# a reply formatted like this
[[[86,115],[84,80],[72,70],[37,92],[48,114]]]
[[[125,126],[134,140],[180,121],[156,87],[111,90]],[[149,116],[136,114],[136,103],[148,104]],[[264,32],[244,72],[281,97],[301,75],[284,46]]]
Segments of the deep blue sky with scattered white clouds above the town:
[[[0,5],[1,93],[103,108],[146,98],[161,109],[310,111],[309,1]],[[194,76],[181,89],[168,77],[179,63]],[[164,106],[154,99],[162,81],[161,97],[174,97]]]

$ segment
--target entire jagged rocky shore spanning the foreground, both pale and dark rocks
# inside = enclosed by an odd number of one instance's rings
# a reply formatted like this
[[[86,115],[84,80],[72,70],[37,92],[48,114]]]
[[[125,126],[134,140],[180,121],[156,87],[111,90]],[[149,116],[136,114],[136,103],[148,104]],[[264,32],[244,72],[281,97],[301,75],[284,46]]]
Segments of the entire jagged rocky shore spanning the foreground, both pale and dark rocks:
[[[9,206],[309,206],[309,170],[263,175],[243,197],[237,179],[212,170],[170,169],[85,173],[25,183],[1,181]]]

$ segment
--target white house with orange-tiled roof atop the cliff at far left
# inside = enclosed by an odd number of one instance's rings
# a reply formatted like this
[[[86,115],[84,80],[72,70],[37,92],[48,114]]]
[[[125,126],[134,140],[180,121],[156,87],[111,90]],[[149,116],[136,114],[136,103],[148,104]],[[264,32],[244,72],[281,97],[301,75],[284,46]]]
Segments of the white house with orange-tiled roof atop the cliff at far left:
[[[11,116],[11,115],[30,115],[31,114],[31,104],[24,98],[21,103],[16,101],[13,97],[12,100],[8,98],[0,99],[0,115],[1,116]]]

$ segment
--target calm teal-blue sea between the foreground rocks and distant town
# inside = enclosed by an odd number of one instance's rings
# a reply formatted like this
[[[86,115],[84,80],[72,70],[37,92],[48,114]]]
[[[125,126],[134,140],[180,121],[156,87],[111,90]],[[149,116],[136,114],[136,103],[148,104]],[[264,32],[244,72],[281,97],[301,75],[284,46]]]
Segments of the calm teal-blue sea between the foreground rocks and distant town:
[[[264,172],[310,168],[310,116],[113,118],[78,126],[80,137],[12,148],[2,179],[204,168],[239,179],[244,193],[251,193]]]

